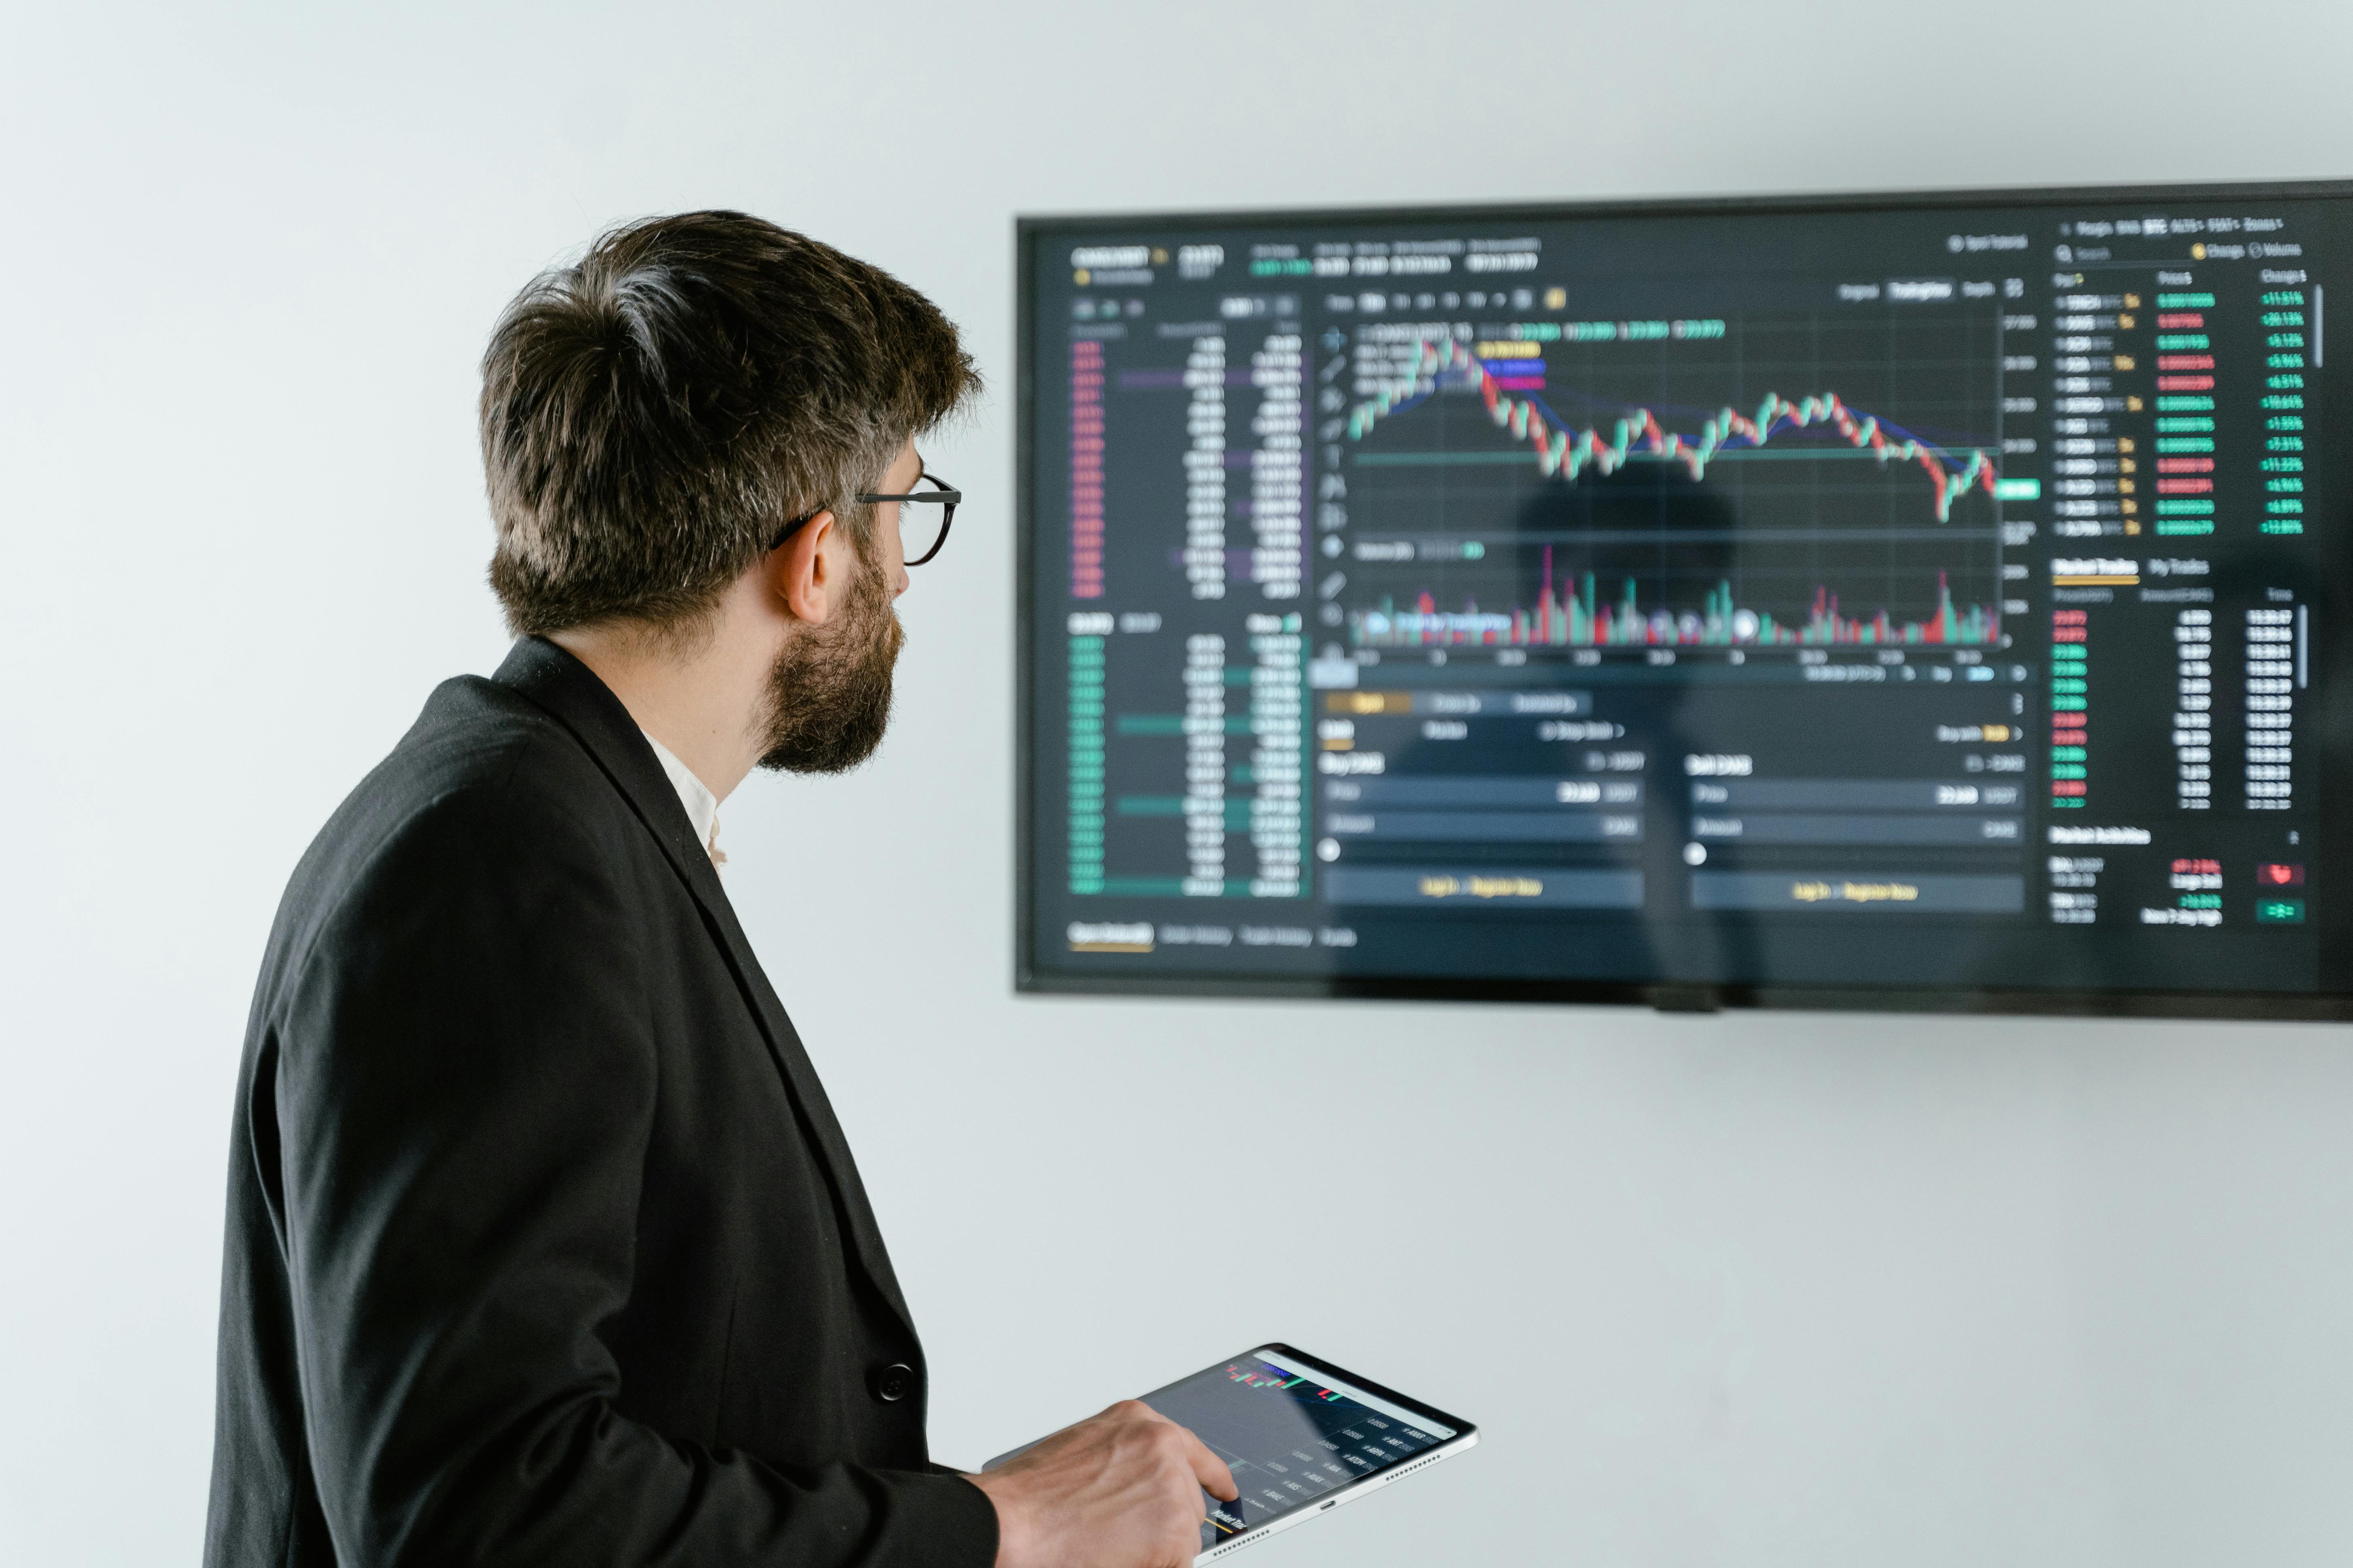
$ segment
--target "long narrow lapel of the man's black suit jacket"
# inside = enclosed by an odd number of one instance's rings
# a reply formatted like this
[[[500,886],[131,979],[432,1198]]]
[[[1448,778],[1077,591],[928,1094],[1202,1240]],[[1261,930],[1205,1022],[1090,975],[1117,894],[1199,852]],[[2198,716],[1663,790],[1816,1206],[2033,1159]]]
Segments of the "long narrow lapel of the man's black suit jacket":
[[[859,1180],[856,1161],[849,1157],[849,1140],[842,1138],[842,1126],[833,1119],[833,1103],[826,1100],[826,1088],[816,1079],[816,1065],[809,1063],[809,1053],[802,1048],[800,1034],[784,1011],[784,1001],[769,987],[767,973],[760,969],[760,959],[744,936],[744,926],[736,924],[734,905],[727,903],[727,891],[711,865],[711,853],[694,842],[694,825],[678,804],[678,790],[671,785],[668,773],[661,771],[654,748],[645,743],[645,731],[638,729],[621,698],[588,665],[541,637],[515,642],[492,679],[546,708],[579,738],[621,797],[628,799],[638,820],[661,844],[661,853],[671,860],[680,882],[687,884],[687,891],[704,912],[706,929],[727,957],[736,985],[744,990],[744,999],[760,1020],[769,1056],[776,1058],[776,1070],[784,1074],[802,1124],[816,1143],[859,1265],[913,1335],[915,1321],[899,1295],[899,1279],[892,1274],[889,1253],[882,1246],[882,1227],[875,1225],[873,1208],[866,1201],[866,1185]]]

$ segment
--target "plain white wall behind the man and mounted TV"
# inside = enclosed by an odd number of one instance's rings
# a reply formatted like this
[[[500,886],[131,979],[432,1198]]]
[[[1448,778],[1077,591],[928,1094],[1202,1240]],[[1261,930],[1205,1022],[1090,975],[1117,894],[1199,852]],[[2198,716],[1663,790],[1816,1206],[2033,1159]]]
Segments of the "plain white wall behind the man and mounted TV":
[[[725,811],[944,1458],[1287,1335],[1487,1429],[1297,1568],[2353,1554],[2346,1030],[1016,999],[1007,842],[1014,212],[2346,174],[2353,9],[327,9],[0,28],[0,1561],[193,1561],[271,910],[504,646],[475,355],[696,205],[995,386],[892,743]]]

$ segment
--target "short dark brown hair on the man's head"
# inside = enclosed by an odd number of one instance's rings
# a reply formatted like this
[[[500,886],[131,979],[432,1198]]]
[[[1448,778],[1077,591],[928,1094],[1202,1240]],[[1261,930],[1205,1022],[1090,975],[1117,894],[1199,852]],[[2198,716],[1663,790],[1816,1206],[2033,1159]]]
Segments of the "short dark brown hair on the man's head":
[[[911,435],[981,378],[889,273],[741,212],[605,233],[482,355],[489,585],[518,635],[692,625],[805,512],[864,550]]]

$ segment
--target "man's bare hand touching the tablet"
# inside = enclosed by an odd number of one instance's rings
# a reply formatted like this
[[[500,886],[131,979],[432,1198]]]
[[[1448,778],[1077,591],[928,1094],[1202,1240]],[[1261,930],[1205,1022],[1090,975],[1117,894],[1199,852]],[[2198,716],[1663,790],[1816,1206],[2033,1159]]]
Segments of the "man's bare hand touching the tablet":
[[[1202,1488],[1235,1497],[1198,1436],[1134,1399],[972,1483],[998,1507],[998,1568],[1186,1568]]]

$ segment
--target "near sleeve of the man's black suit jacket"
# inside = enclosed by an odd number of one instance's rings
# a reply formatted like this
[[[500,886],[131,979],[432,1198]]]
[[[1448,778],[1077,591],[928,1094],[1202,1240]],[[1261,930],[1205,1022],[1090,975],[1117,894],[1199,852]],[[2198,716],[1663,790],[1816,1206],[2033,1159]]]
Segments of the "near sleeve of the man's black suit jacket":
[[[659,1093],[638,914],[513,792],[388,835],[278,1016],[285,1248],[346,1563],[991,1568],[969,1481],[786,1469],[614,1408]]]

